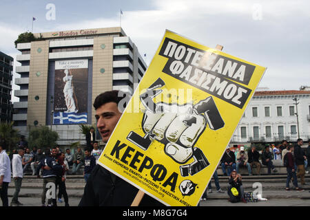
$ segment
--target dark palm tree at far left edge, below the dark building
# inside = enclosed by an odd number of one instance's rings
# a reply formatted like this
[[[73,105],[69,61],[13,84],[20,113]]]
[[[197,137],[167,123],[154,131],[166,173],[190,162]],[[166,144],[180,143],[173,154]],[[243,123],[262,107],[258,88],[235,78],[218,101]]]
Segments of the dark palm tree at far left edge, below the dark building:
[[[20,138],[19,132],[13,129],[13,123],[1,122],[0,124],[0,138],[8,144],[8,151],[17,146]]]

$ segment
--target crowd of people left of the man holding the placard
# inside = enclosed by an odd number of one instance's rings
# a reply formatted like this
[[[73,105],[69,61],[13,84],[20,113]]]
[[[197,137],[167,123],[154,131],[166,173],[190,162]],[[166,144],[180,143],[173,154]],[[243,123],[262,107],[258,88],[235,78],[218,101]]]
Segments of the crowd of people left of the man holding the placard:
[[[63,152],[60,146],[47,148],[45,151],[34,146],[32,151],[30,151],[27,142],[24,143],[23,146],[19,145],[17,149],[12,150],[10,155],[6,153],[6,142],[1,141],[0,143],[0,166],[1,170],[6,170],[6,173],[0,173],[0,190],[3,206],[9,205],[8,184],[11,181],[11,175],[14,180],[15,191],[10,206],[23,206],[23,203],[19,201],[19,192],[23,176],[27,174],[43,178],[42,206],[45,206],[46,192],[50,188],[50,184],[55,186],[54,192],[56,196],[47,199],[47,206],[57,206],[57,201],[59,203],[63,202],[62,197],[65,201],[65,206],[69,206],[65,187],[66,175],[76,175],[79,173],[81,166],[84,166],[83,177],[86,182],[102,152],[99,148],[99,143],[93,140],[87,143],[84,151],[82,151],[81,146],[78,146],[75,153],[71,153],[70,148],[66,148]],[[72,168],[72,172],[70,172],[70,168]],[[57,189],[58,193],[56,194]]]

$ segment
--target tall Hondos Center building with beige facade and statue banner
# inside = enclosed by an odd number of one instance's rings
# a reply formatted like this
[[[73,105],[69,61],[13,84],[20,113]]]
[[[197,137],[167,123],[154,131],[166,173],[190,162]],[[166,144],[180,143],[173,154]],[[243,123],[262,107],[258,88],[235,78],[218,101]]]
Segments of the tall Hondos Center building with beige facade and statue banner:
[[[147,65],[121,28],[34,36],[37,41],[17,44],[14,125],[26,136],[31,127],[48,125],[59,144],[83,144],[79,124],[96,124],[94,98],[112,89],[133,94]]]

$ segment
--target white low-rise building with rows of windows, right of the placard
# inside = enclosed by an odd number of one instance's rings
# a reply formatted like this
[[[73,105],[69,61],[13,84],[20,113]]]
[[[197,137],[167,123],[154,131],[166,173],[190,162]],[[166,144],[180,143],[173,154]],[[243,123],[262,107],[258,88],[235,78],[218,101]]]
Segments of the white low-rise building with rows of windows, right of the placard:
[[[231,144],[296,142],[298,133],[305,142],[310,139],[310,89],[256,91]]]

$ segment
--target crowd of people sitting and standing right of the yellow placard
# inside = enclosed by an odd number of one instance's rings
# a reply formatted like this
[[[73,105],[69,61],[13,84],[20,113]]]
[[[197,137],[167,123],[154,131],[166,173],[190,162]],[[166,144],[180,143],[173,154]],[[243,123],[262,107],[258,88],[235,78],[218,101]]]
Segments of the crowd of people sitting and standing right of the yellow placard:
[[[298,138],[297,144],[288,144],[287,140],[282,140],[281,144],[268,144],[265,149],[259,153],[256,146],[252,146],[248,151],[245,151],[244,146],[231,151],[227,148],[220,160],[220,165],[223,170],[223,175],[229,176],[227,194],[231,202],[246,202],[245,192],[242,186],[242,176],[240,175],[240,167],[247,168],[248,175],[260,175],[262,164],[267,166],[267,175],[277,173],[273,160],[280,160],[280,164],[287,168],[286,191],[292,190],[289,184],[292,184],[297,192],[304,191],[298,186],[298,178],[300,185],[304,186],[307,183],[304,180],[305,173],[309,173],[307,165],[310,161],[310,140],[308,147],[303,149],[303,140]],[[261,157],[261,159],[260,159]],[[261,162],[260,162],[261,161]],[[256,173],[252,173],[253,168],[256,168]],[[218,180],[218,173],[215,171],[213,175],[217,192],[223,193]],[[207,199],[207,192],[211,193],[211,181],[209,181],[208,190],[205,191],[202,200]],[[309,191],[310,192],[310,191]]]

